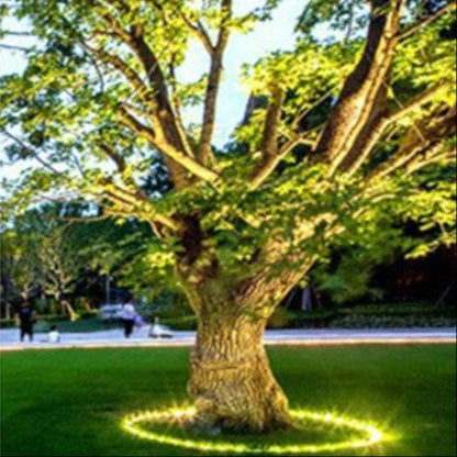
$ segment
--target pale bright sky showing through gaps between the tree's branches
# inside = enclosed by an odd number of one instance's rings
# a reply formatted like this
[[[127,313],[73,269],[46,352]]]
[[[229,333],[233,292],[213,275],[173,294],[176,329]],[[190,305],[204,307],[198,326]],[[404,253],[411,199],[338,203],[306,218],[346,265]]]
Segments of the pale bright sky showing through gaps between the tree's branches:
[[[263,5],[265,0],[235,0],[235,13],[246,13],[256,7]],[[297,19],[303,9],[303,0],[283,0],[275,11],[270,22],[260,23],[248,36],[235,34],[226,49],[224,58],[224,79],[218,105],[216,130],[213,143],[222,147],[230,140],[235,126],[242,121],[248,91],[239,83],[241,68],[244,63],[255,63],[260,57],[276,49],[290,49],[294,44],[293,29]],[[16,23],[5,24],[11,30],[24,30]],[[27,38],[9,38],[4,43],[26,46]],[[25,62],[21,52],[0,48],[0,75],[21,71]],[[180,69],[182,80],[198,79],[202,71],[208,71],[208,56],[203,47],[196,45],[188,60]],[[201,119],[200,112],[188,115],[191,121]],[[1,147],[1,146],[0,146]]]

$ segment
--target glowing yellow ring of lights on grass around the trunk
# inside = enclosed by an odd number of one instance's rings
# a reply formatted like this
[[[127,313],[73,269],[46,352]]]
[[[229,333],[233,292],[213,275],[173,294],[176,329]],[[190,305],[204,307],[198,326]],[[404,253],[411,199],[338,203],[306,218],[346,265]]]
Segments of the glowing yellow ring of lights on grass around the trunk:
[[[384,439],[384,435],[374,425],[360,422],[350,417],[343,417],[332,413],[316,413],[306,410],[292,410],[291,416],[297,422],[311,421],[323,423],[330,426],[346,428],[361,435],[354,439],[345,439],[337,443],[322,444],[293,444],[293,445],[266,445],[260,447],[250,447],[239,443],[214,443],[210,441],[193,441],[187,438],[177,438],[164,433],[149,432],[142,428],[142,423],[170,424],[182,421],[190,421],[194,415],[194,409],[168,409],[164,411],[146,411],[131,414],[122,421],[122,428],[132,435],[142,439],[148,439],[158,444],[182,447],[186,449],[194,449],[214,453],[233,453],[233,454],[274,454],[274,455],[291,455],[291,454],[317,454],[324,452],[336,452],[342,449],[361,448],[372,446]]]

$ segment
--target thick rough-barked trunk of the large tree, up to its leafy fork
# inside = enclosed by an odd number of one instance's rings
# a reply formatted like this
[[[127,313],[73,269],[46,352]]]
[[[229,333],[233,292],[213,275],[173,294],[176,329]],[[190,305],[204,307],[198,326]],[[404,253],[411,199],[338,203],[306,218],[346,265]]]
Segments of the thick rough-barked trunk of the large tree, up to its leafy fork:
[[[301,268],[278,275],[268,267],[283,255],[275,244],[261,257],[264,268],[230,279],[205,247],[197,219],[187,224],[177,276],[198,319],[188,384],[197,422],[250,432],[290,427],[288,399],[270,369],[263,336],[276,306],[312,261],[291,254],[290,261]]]

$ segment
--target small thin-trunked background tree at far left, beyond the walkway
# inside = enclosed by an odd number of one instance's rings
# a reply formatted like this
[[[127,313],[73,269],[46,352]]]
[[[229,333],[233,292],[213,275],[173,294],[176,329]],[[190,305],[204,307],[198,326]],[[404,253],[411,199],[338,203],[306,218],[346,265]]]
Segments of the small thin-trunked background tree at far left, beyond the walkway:
[[[11,221],[12,225],[2,232],[3,257],[10,266],[2,277],[10,278],[23,300],[31,300],[40,292],[51,297],[63,314],[75,320],[68,296],[87,267],[88,249],[81,233],[74,227],[68,230],[64,212],[60,204],[47,204]]]

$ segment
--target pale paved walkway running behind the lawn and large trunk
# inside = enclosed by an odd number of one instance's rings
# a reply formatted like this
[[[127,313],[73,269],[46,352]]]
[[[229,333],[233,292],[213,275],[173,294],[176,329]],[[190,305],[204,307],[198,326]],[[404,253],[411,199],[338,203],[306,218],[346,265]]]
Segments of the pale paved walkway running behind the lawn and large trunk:
[[[0,350],[192,346],[196,332],[175,332],[172,338],[148,337],[148,326],[135,330],[129,339],[122,330],[94,333],[64,333],[58,344],[47,343],[46,333],[36,333],[33,343],[20,343],[19,330],[0,331]],[[359,345],[359,344],[455,344],[456,328],[389,330],[278,330],[267,331],[267,345]]]

